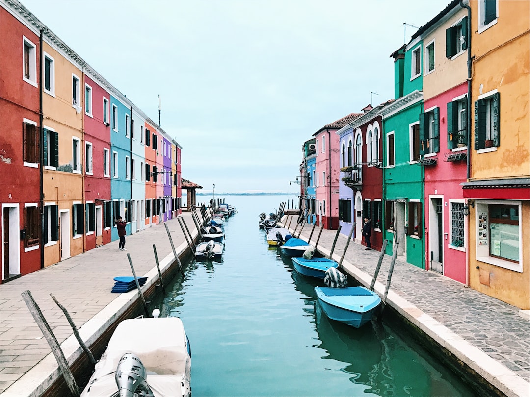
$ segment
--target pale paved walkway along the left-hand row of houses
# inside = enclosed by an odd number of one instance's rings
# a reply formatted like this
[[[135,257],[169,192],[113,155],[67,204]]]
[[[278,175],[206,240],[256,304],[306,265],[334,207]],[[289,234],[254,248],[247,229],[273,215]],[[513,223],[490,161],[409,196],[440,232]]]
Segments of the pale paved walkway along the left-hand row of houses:
[[[183,219],[195,230],[191,213]],[[165,222],[176,247],[184,235],[176,219]],[[55,265],[0,284],[0,394],[33,368],[51,349],[33,320],[21,293],[30,290],[40,306],[59,343],[72,335],[63,312],[51,299],[50,293],[68,310],[77,328],[121,294],[111,293],[116,276],[132,276],[127,254],[138,276],[156,266],[153,252],[156,244],[158,260],[172,253],[164,224],[154,225],[127,236],[126,252],[118,250],[112,241],[85,254],[76,255]]]

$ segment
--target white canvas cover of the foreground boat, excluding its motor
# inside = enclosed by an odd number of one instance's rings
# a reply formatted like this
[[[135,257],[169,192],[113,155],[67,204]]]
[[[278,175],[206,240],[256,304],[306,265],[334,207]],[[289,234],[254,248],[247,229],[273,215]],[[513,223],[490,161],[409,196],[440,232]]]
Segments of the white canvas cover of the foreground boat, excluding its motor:
[[[147,384],[155,397],[189,395],[191,357],[182,320],[176,317],[123,320],[114,331],[107,350],[82,397],[110,397],[118,391],[114,380],[123,354],[133,353],[147,371]]]

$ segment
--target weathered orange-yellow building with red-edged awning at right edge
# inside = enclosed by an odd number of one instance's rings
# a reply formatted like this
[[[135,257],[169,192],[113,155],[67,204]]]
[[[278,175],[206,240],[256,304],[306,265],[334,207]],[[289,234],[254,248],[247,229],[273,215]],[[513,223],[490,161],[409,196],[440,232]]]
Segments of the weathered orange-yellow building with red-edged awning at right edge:
[[[530,2],[471,0],[469,284],[530,309]]]

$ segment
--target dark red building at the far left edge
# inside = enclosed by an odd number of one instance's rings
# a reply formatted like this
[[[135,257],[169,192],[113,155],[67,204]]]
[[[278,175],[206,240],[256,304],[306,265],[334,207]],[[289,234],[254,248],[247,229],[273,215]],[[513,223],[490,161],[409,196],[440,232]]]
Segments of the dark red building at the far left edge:
[[[0,7],[2,280],[41,268],[40,32]],[[55,206],[55,209],[57,207]],[[42,236],[46,239],[48,233]]]

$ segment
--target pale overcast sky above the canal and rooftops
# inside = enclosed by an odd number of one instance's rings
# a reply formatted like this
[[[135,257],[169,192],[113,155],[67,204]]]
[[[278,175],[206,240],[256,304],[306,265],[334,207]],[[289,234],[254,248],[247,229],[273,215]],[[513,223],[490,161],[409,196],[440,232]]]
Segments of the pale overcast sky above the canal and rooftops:
[[[21,0],[182,146],[202,192],[299,192],[302,145],[394,95],[449,0]],[[375,94],[372,94],[375,93]]]

